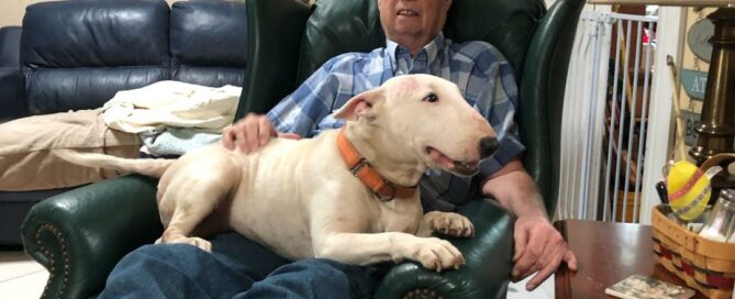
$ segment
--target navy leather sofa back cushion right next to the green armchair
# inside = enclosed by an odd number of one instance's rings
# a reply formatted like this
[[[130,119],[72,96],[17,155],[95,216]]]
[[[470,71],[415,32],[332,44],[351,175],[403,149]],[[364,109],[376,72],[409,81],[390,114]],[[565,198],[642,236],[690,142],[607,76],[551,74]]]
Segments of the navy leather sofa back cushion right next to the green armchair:
[[[171,79],[242,86],[245,68],[244,2],[179,1],[171,7]]]

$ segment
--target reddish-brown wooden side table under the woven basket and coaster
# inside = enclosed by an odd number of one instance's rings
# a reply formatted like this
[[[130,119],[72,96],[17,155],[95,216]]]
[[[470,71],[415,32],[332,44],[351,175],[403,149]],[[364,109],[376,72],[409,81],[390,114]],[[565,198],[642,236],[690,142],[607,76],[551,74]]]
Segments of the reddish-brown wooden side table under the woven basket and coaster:
[[[577,272],[556,272],[556,298],[613,298],[605,288],[633,274],[687,284],[654,259],[650,225],[563,220],[554,225],[577,255]],[[605,297],[606,296],[606,297]],[[694,298],[705,298],[697,294]]]

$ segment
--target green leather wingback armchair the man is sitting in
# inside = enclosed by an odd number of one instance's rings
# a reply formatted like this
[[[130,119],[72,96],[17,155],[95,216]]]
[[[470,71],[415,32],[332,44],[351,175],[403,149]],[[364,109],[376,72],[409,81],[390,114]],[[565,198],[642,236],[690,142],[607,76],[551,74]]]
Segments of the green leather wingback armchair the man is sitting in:
[[[560,118],[567,65],[583,0],[454,0],[445,35],[483,40],[513,65],[524,164],[547,211],[556,206]],[[248,52],[238,117],[265,112],[323,62],[344,52],[385,45],[376,0],[248,0]],[[36,204],[23,223],[25,252],[51,273],[44,298],[94,297],[126,253],[163,232],[156,180],[137,175],[92,184]],[[377,298],[502,298],[513,254],[514,217],[497,204],[463,207],[476,236],[450,240],[465,255],[458,270],[394,266]]]

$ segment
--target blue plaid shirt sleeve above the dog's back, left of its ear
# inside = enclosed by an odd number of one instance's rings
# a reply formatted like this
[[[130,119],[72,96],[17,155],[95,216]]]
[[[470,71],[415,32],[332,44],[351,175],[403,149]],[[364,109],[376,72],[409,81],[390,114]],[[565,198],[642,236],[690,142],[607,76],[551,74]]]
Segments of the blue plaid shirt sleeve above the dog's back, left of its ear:
[[[315,135],[316,125],[331,113],[339,88],[333,71],[338,59],[339,56],[327,60],[267,113],[276,131],[302,137]]]

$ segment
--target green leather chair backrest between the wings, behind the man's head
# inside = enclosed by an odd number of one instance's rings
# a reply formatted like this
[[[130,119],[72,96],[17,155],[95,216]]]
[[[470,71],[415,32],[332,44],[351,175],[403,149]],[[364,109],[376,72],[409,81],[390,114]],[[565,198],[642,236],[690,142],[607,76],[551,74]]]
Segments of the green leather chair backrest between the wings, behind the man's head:
[[[485,41],[500,49],[521,76],[534,30],[546,12],[542,0],[456,0],[444,34],[456,42]],[[327,59],[386,46],[377,0],[319,0],[307,21],[297,85]]]

